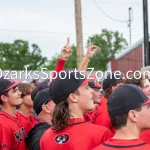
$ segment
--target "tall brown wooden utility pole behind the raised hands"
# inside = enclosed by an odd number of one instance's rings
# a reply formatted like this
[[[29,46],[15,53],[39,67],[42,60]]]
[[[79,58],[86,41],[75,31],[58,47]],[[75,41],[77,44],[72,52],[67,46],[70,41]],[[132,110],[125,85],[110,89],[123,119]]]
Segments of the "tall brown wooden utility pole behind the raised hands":
[[[82,37],[82,13],[81,13],[81,0],[75,1],[75,22],[76,22],[76,43],[77,43],[77,67],[79,68],[84,52],[83,52],[83,37]]]

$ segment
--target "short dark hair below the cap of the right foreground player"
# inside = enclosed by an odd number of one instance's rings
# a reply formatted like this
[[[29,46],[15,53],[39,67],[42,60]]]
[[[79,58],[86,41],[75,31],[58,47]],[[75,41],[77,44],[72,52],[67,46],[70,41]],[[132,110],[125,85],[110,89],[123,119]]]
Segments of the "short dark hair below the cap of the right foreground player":
[[[135,111],[141,111],[141,107],[135,109]],[[111,124],[116,129],[119,130],[121,127],[126,126],[128,114],[111,117]]]

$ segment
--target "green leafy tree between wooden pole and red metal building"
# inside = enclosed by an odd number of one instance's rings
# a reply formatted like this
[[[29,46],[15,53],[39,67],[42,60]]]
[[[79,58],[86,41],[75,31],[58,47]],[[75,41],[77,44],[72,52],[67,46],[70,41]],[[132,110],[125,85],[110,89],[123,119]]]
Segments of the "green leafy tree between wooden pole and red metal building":
[[[88,67],[94,67],[95,70],[102,71],[106,70],[108,61],[128,45],[122,34],[118,31],[113,32],[107,29],[103,29],[101,34],[89,37],[88,43],[89,41],[100,47],[100,49],[91,59]]]

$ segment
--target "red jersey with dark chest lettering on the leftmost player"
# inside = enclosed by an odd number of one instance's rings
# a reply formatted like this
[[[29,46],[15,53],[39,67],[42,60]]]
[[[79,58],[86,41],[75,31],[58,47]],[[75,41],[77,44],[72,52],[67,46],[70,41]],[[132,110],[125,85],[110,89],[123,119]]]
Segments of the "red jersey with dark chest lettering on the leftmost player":
[[[0,111],[0,149],[25,150],[25,129],[19,117]]]

